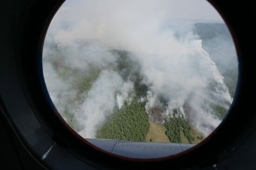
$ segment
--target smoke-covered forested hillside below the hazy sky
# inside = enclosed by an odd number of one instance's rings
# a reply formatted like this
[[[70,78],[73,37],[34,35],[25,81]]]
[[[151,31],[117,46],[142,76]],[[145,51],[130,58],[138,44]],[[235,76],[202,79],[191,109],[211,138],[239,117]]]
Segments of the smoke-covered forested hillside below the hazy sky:
[[[48,42],[43,62],[51,70],[45,77],[56,81],[47,85],[56,108],[85,138],[199,143],[226,116],[238,73],[226,25],[199,23],[193,31],[203,50],[172,61],[94,39],[79,39],[75,49]]]

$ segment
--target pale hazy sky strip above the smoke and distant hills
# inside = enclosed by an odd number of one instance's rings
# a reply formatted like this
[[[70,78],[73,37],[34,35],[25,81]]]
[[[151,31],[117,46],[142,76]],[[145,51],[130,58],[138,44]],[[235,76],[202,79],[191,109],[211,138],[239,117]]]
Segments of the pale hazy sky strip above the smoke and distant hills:
[[[106,2],[109,1],[109,6]],[[168,7],[168,16],[170,21],[182,23],[188,22],[223,22],[219,13],[207,0],[66,0],[61,6],[60,10],[67,20],[70,20],[70,11],[83,10],[86,6],[101,6],[103,4],[106,8],[118,7],[126,8],[127,4],[136,8],[137,3],[154,4],[155,8],[163,6]],[[123,4],[123,5],[122,5]],[[150,6],[150,5],[149,5]],[[155,10],[155,9],[154,9]],[[159,8],[161,10],[161,8]],[[165,9],[166,10],[166,9]],[[74,14],[73,14],[74,15]],[[73,17],[72,17],[73,18]]]

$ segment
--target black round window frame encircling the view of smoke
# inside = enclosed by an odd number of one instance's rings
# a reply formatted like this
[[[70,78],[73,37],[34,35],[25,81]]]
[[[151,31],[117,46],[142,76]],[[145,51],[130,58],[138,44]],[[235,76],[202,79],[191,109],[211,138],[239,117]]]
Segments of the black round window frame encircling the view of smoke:
[[[20,47],[25,48],[20,50],[20,57],[16,56],[16,58],[13,58],[13,60],[16,62],[16,66],[21,71],[19,73],[20,84],[22,84],[22,90],[24,91],[24,94],[26,94],[24,96],[26,96],[27,102],[34,111],[34,115],[36,115],[36,118],[40,121],[45,131],[52,137],[53,141],[60,145],[64,150],[68,150],[69,153],[76,155],[76,158],[81,159],[84,163],[88,163],[89,160],[89,162],[91,161],[94,164],[100,164],[107,167],[116,168],[120,165],[127,165],[127,167],[137,165],[137,167],[143,166],[144,168],[152,168],[163,166],[163,164],[172,164],[174,165],[173,167],[189,167],[193,164],[195,165],[202,163],[216,163],[221,155],[227,155],[227,153],[234,151],[234,149],[236,149],[236,147],[240,145],[246,137],[249,136],[249,133],[255,127],[254,120],[256,120],[256,116],[253,114],[253,112],[246,112],[250,111],[251,108],[247,110],[242,109],[243,107],[247,106],[248,103],[253,104],[252,102],[246,103],[246,101],[249,101],[249,99],[251,99],[250,97],[248,99],[244,98],[245,96],[248,96],[248,93],[246,92],[248,88],[253,89],[249,85],[252,80],[250,80],[250,78],[248,77],[248,66],[251,61],[249,59],[244,59],[244,57],[250,55],[250,52],[252,52],[250,50],[250,48],[253,47],[252,44],[249,44],[249,47],[246,47],[246,45],[248,45],[248,42],[252,41],[246,41],[249,40],[249,38],[243,37],[243,35],[246,34],[247,30],[241,29],[239,26],[239,24],[243,23],[242,20],[244,19],[243,17],[246,17],[246,14],[241,14],[241,16],[236,14],[236,10],[240,9],[241,7],[239,3],[236,4],[236,2],[229,3],[221,2],[218,0],[211,0],[210,2],[222,15],[222,18],[225,20],[226,24],[229,27],[229,31],[231,32],[231,35],[236,45],[239,62],[239,77],[236,95],[234,97],[232,107],[229,109],[229,116],[227,117],[225,122],[223,122],[222,125],[218,127],[217,131],[211,134],[210,138],[204,140],[204,143],[200,145],[200,147],[199,145],[197,145],[198,147],[194,148],[193,151],[190,151],[183,155],[178,155],[177,157],[172,157],[170,159],[152,161],[147,160],[147,163],[136,162],[135,160],[119,159],[118,157],[113,157],[112,155],[105,154],[104,152],[99,151],[92,146],[85,145],[85,143],[81,142],[81,139],[78,139],[78,137],[76,137],[73,132],[70,132],[67,126],[64,126],[63,122],[61,122],[58,116],[54,114],[56,113],[56,110],[54,110],[54,108],[50,106],[51,103],[49,99],[47,99],[47,97],[49,96],[47,94],[46,87],[43,86],[45,84],[42,75],[42,68],[40,68],[42,64],[42,47],[48,25],[52,17],[54,16],[54,13],[58,10],[62,2],[62,0],[55,0],[53,2],[48,2],[48,4],[44,4],[42,2],[34,2],[34,4],[30,4],[33,8],[29,8],[28,12],[24,14],[24,20],[22,20],[20,24],[21,26],[18,29],[18,31],[22,32],[22,35],[19,37],[21,40],[18,43]],[[230,8],[230,4],[236,4],[235,8]],[[246,6],[246,3],[244,4]],[[40,10],[40,5],[47,7],[47,13]],[[249,5],[249,3],[247,5]],[[236,19],[232,19],[233,15],[236,16]],[[35,19],[38,19],[38,23],[35,24],[33,30],[33,28],[30,28],[30,25],[31,21]],[[236,22],[237,19],[238,22]],[[24,57],[26,57],[27,54],[28,58],[24,60]],[[7,107],[4,109],[8,112]],[[241,112],[245,112],[245,115],[247,115],[248,117],[240,119],[238,115]],[[232,119],[230,119],[230,116],[232,117]],[[34,151],[36,150],[36,148],[26,142],[29,139],[24,136],[22,137],[21,132],[23,131],[23,129],[20,127],[21,124],[19,125],[17,122],[15,122],[19,119],[18,116],[16,115],[15,117],[13,113],[9,112],[8,118],[13,124],[13,128],[20,135],[20,139],[23,141],[24,145],[26,145],[26,147],[32,152],[32,154],[37,157],[38,160],[40,160],[40,156],[37,155],[37,153]],[[237,132],[230,131],[231,127],[236,128],[236,123],[241,121],[241,129],[238,129]],[[35,127],[33,126],[33,129],[34,128]],[[220,141],[222,137],[227,140]],[[89,156],[88,154],[86,154],[88,152],[90,153]],[[99,156],[101,156],[100,161],[98,161]],[[115,161],[115,164],[111,164],[111,161]],[[187,161],[186,165],[182,164],[184,163],[184,161]],[[46,160],[40,160],[40,162],[42,164],[50,164],[49,162],[47,163]]]

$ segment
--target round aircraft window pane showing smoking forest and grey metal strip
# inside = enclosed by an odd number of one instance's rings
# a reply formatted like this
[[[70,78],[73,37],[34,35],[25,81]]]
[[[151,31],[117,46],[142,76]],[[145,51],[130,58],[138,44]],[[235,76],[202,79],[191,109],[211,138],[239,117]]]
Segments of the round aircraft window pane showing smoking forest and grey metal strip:
[[[67,0],[42,59],[68,126],[117,155],[185,151],[221,124],[236,92],[235,45],[206,0]]]

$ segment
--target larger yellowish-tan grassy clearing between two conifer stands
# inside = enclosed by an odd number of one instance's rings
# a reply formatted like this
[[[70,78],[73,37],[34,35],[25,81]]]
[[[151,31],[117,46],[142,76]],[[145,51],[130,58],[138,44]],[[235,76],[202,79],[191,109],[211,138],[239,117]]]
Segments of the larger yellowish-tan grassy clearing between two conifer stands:
[[[165,134],[166,128],[163,125],[158,125],[151,121],[149,121],[149,124],[149,132],[146,137],[146,142],[170,142]]]

